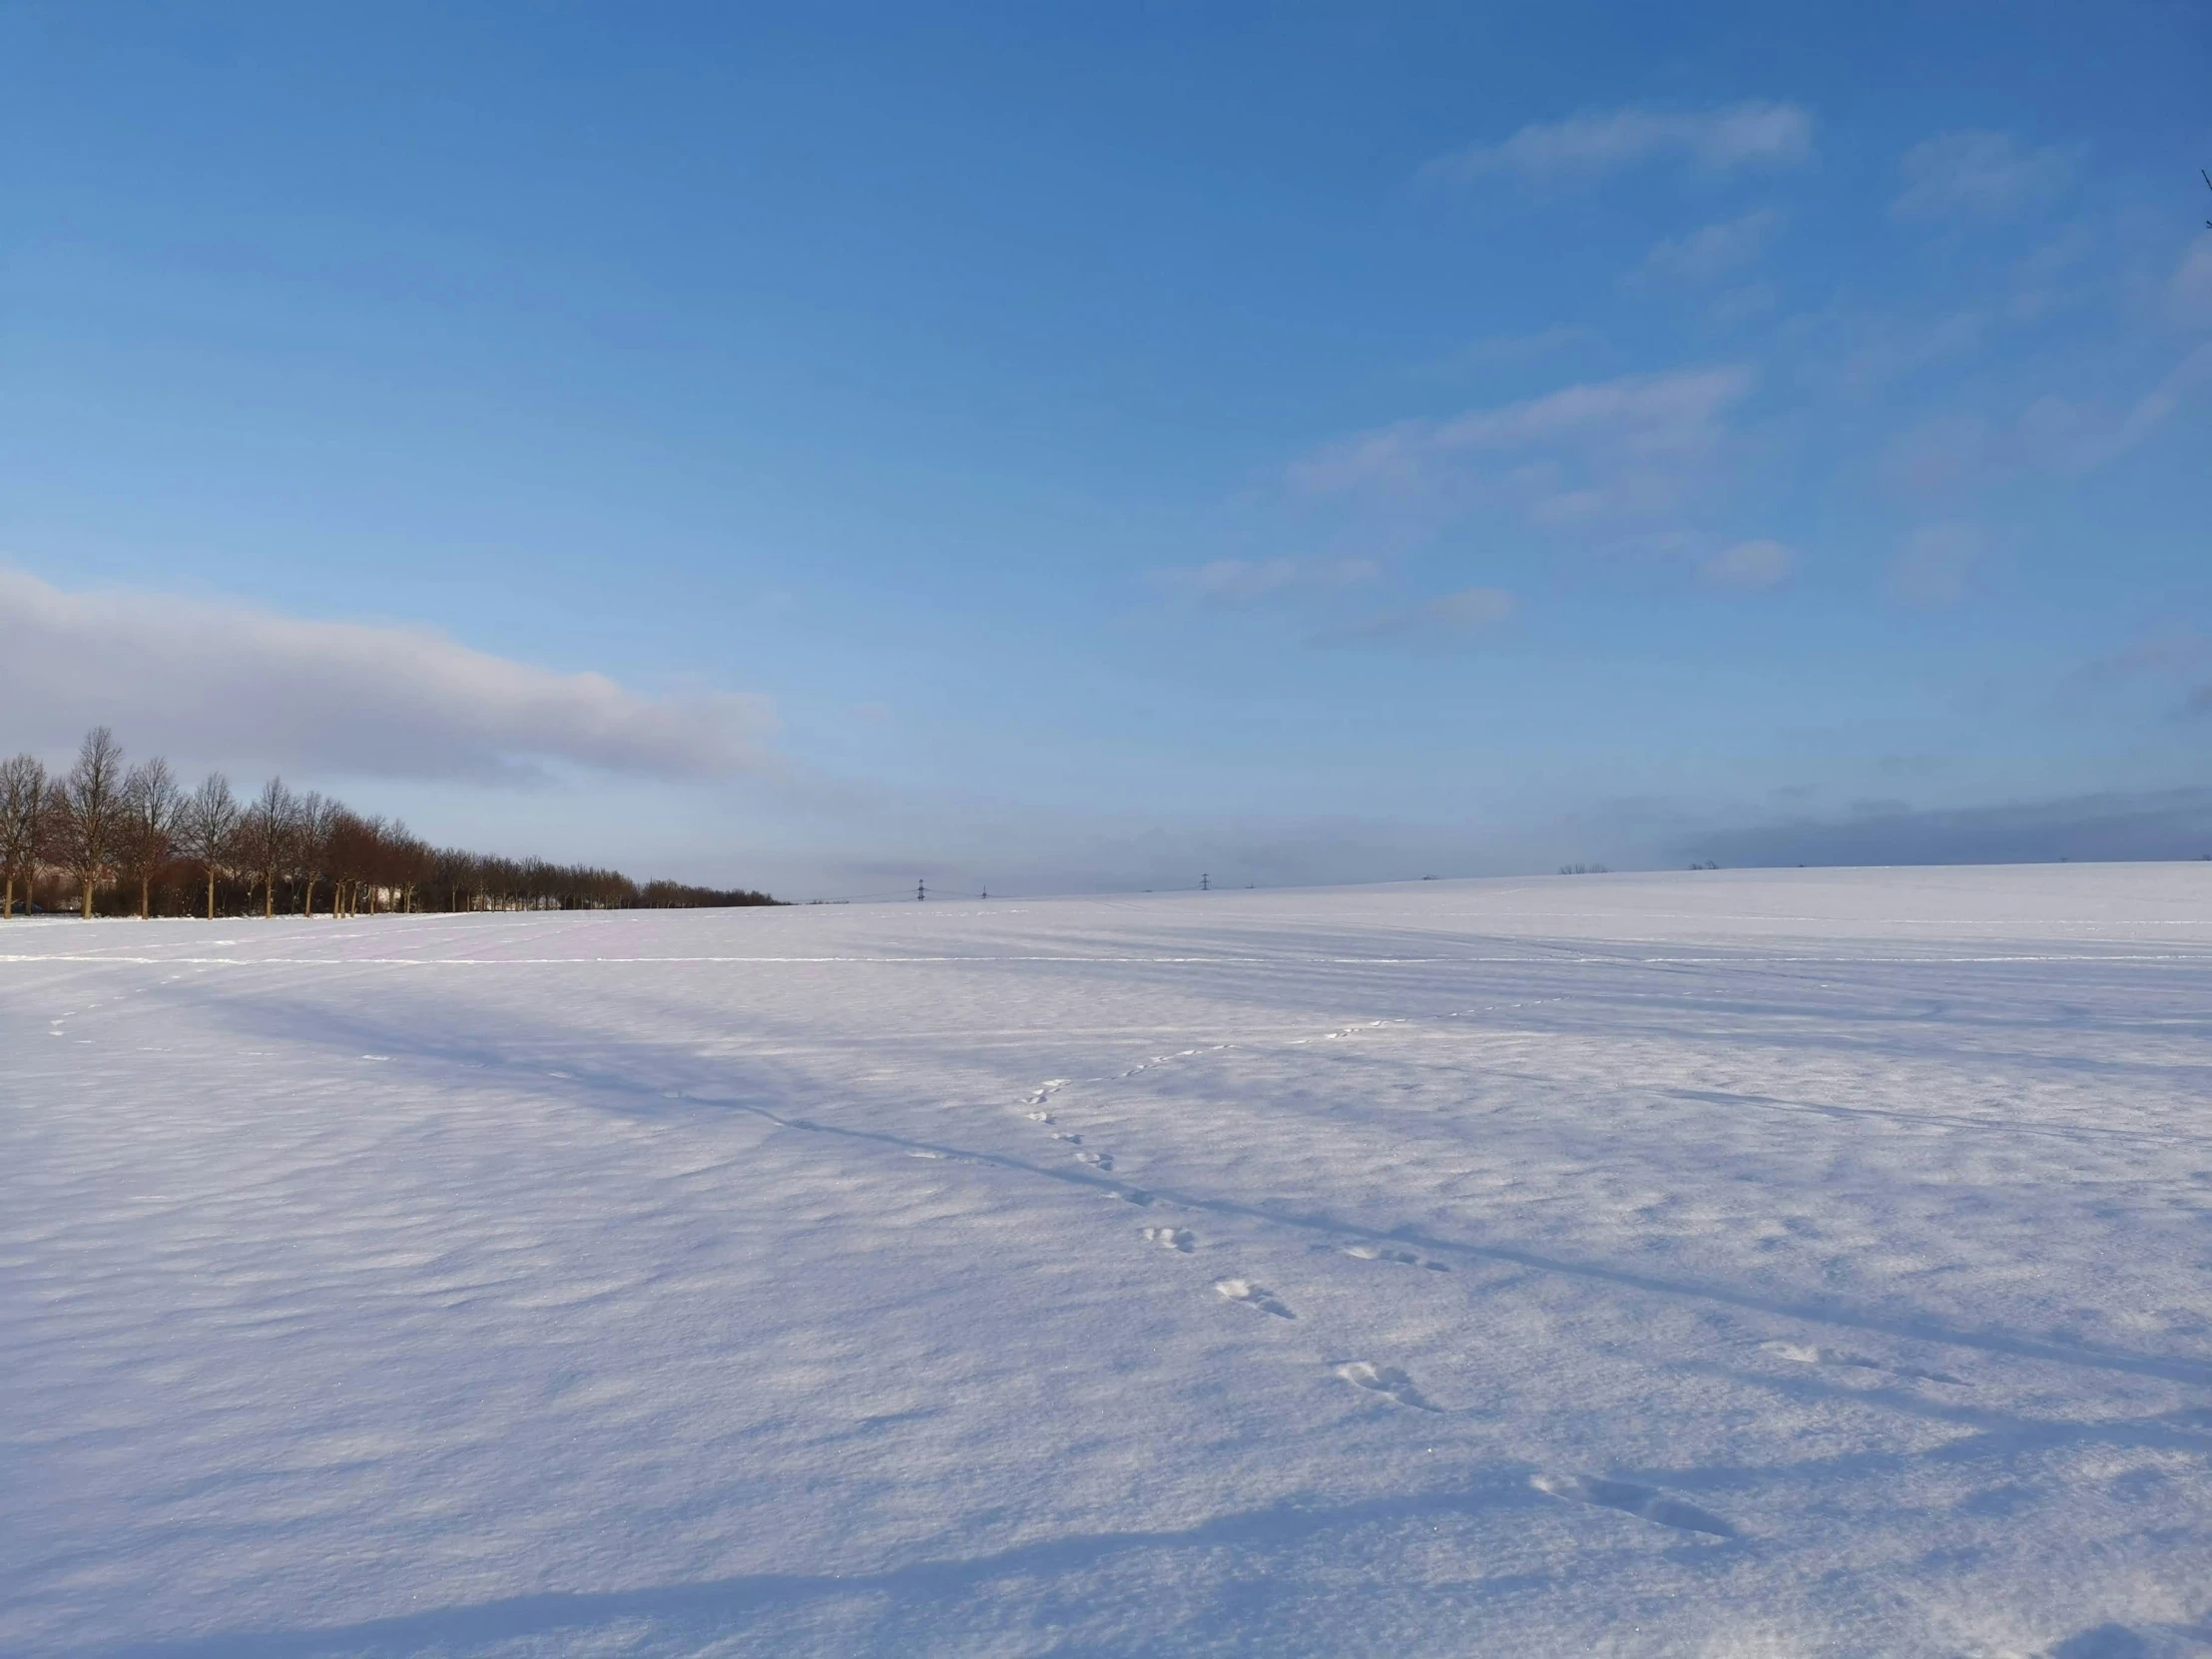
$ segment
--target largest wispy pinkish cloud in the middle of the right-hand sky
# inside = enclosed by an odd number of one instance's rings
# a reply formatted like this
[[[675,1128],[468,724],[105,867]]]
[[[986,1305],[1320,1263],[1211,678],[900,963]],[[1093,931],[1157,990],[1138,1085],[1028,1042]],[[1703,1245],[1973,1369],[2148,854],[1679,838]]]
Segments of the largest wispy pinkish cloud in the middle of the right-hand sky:
[[[1292,495],[1356,500],[1427,522],[1517,509],[1553,529],[1670,511],[1752,392],[1745,367],[1562,387],[1542,398],[1400,420],[1303,456]]]

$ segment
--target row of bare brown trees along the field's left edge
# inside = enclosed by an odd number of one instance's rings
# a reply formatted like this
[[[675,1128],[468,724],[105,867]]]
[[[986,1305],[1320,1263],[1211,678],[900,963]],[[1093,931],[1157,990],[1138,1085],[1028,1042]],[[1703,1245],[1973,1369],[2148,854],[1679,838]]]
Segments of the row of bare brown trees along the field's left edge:
[[[460,909],[633,909],[772,905],[768,894],[637,885],[619,869],[549,865],[431,847],[405,823],[354,812],[327,796],[294,794],[270,779],[239,801],[215,772],[186,790],[168,761],[124,763],[115,734],[84,737],[77,763],[49,776],[31,754],[0,761],[0,916],[15,891],[35,902],[40,883],[66,880],[86,918],[95,898],[153,916],[179,894],[190,909],[259,907],[263,916]]]

